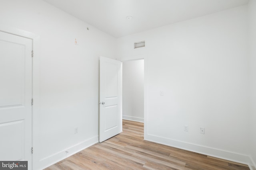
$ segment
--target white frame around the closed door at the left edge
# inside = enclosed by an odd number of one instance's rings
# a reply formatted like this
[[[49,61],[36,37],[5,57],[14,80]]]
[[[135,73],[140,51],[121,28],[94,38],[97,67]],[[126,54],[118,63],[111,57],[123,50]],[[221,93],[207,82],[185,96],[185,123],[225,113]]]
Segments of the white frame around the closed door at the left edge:
[[[40,36],[34,33],[24,31],[22,29],[18,29],[15,27],[10,27],[8,25],[0,24],[0,31],[5,33],[10,33],[12,35],[17,35],[20,37],[28,38],[32,40],[32,50],[34,51],[34,55],[32,57],[32,98],[34,100],[34,104],[32,106],[32,146],[33,150],[38,148],[39,144],[39,113],[40,113],[40,103],[36,102],[39,101],[39,94],[40,94],[40,63],[39,63],[39,44],[40,44]],[[39,163],[39,153],[33,152],[31,156],[31,166],[32,169],[38,169],[37,164]]]

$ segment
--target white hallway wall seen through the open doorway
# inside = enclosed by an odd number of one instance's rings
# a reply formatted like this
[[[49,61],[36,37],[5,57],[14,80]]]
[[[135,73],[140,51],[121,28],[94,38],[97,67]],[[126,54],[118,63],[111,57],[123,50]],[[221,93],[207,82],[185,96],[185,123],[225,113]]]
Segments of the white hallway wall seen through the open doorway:
[[[123,119],[144,122],[144,60],[123,62]]]

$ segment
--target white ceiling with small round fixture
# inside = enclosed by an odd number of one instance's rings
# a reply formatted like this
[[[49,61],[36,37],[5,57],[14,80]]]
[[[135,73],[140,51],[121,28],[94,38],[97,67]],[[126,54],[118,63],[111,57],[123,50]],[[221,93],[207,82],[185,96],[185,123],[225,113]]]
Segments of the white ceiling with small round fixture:
[[[117,38],[248,3],[248,0],[44,1]],[[133,18],[127,20],[126,16]]]

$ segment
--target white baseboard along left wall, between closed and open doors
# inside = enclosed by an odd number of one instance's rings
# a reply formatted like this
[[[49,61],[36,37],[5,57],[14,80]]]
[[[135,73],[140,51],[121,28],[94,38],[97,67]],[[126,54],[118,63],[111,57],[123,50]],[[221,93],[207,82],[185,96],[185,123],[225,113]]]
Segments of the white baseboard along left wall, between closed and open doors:
[[[92,138],[82,142],[82,143],[78,143],[72,147],[69,147],[60,152],[52,154],[46,158],[42,158],[39,161],[40,167],[42,167],[42,168],[39,168],[39,169],[47,168],[47,167],[65,159],[77,152],[80,152],[81,150],[84,150],[84,149],[94,145],[95,143],[98,143],[98,142],[99,142],[99,137],[95,136],[95,137],[92,137]],[[68,152],[68,153],[66,153],[66,152]]]

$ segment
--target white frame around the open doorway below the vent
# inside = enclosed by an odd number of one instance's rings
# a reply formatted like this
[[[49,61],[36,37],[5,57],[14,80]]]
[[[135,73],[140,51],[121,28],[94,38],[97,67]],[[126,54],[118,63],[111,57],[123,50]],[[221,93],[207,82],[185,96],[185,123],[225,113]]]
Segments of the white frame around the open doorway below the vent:
[[[148,138],[148,55],[121,58],[120,61],[144,60],[144,140]]]

